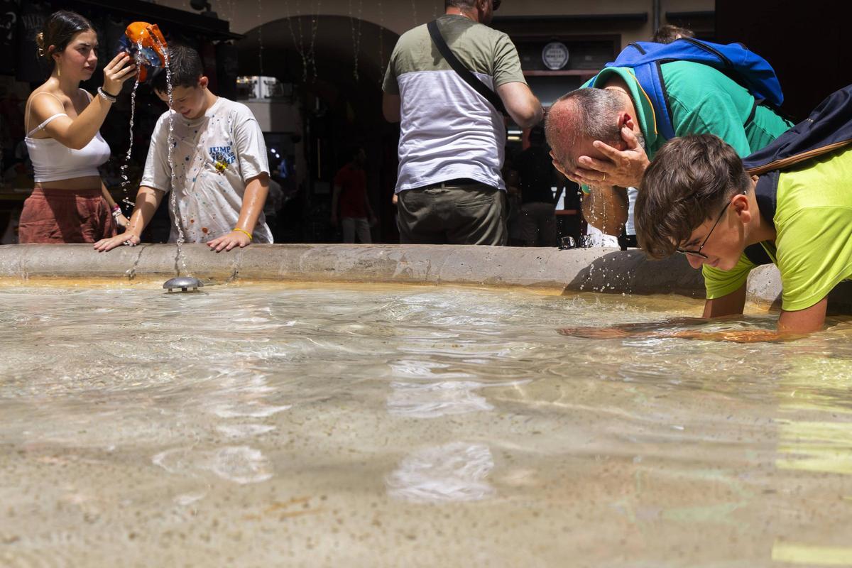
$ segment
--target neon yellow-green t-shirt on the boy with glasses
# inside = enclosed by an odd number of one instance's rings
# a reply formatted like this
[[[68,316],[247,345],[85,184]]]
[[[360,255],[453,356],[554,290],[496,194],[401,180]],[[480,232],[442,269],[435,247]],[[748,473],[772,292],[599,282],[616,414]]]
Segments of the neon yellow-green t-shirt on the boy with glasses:
[[[852,148],[782,171],[773,221],[775,242],[762,244],[781,274],[781,309],[811,307],[852,277]],[[705,266],[707,299],[739,290],[755,266],[746,255],[729,271]]]

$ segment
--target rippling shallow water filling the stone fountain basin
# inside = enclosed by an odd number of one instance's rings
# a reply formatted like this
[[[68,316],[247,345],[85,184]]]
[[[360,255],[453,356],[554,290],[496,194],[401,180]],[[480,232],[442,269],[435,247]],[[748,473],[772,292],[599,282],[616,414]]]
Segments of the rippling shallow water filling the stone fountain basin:
[[[556,330],[700,302],[204,290],[0,287],[0,565],[852,565],[849,323],[590,340]]]

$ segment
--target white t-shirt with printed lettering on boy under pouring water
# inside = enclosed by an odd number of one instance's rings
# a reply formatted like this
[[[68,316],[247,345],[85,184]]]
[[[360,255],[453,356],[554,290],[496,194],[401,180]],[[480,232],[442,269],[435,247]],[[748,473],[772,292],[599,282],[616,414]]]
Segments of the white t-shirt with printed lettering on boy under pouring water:
[[[172,189],[169,167],[169,115],[174,121],[172,160],[181,229],[187,243],[206,243],[233,230],[243,206],[246,181],[269,173],[263,133],[248,106],[223,97],[201,118],[188,120],[164,112],[151,136],[141,185]],[[172,217],[169,242],[177,240]],[[272,243],[263,213],[257,219],[255,243]]]

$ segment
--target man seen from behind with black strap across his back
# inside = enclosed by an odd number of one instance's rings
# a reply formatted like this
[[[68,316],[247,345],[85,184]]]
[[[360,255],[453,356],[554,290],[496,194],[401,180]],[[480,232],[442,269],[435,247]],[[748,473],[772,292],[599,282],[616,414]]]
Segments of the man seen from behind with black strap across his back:
[[[521,128],[543,111],[515,45],[488,26],[500,0],[445,0],[436,25],[459,62]],[[403,244],[505,244],[504,118],[440,55],[427,26],[400,36],[383,83],[400,123],[397,227]]]

